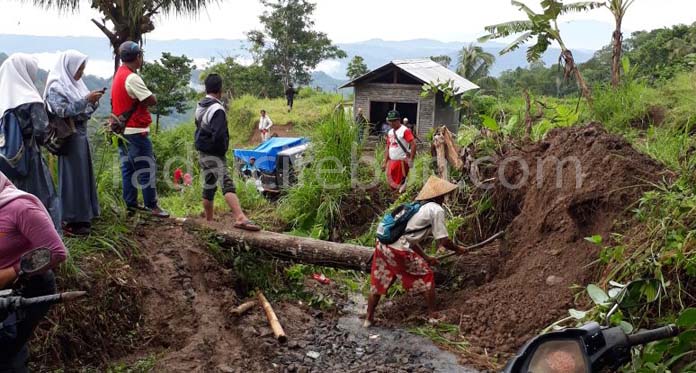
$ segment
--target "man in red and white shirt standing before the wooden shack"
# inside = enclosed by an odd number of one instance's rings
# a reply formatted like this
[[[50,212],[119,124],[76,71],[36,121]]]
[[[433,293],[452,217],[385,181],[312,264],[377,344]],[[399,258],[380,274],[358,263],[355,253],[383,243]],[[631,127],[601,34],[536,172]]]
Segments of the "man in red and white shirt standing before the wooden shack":
[[[401,114],[392,110],[387,114],[391,126],[387,132],[387,149],[382,168],[387,172],[389,187],[398,193],[406,190],[406,178],[416,159],[416,141],[413,132],[401,125]]]

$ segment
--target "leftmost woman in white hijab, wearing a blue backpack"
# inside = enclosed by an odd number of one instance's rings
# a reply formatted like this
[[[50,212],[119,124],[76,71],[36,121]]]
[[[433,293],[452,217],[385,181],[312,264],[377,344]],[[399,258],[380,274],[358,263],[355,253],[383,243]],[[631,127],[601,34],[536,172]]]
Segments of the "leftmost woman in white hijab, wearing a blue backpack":
[[[13,179],[12,183],[38,197],[60,231],[60,201],[39,148],[48,128],[48,115],[34,84],[38,71],[36,59],[23,53],[11,55],[0,65],[0,115],[11,114],[19,121],[24,133],[24,156],[30,164],[27,176]]]

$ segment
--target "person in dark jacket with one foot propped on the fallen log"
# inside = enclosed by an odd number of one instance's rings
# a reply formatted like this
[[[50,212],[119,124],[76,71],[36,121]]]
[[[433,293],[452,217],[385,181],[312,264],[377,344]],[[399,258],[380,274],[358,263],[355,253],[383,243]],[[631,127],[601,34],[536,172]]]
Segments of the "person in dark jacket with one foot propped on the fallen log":
[[[198,150],[203,184],[203,209],[207,221],[213,221],[217,184],[222,186],[222,195],[234,215],[235,228],[259,231],[261,228],[246,217],[235,194],[234,181],[227,169],[226,154],[230,135],[227,128],[227,113],[222,105],[222,78],[210,74],[205,78],[206,96],[196,107],[195,144]]]

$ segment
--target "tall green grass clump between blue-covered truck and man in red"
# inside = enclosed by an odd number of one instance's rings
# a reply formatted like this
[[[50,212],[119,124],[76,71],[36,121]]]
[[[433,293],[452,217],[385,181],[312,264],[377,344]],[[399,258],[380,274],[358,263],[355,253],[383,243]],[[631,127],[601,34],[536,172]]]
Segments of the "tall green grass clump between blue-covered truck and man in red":
[[[342,198],[351,189],[351,165],[358,159],[355,133],[343,110],[316,125],[310,136],[310,163],[280,201],[279,213],[292,229],[329,237],[339,221]]]

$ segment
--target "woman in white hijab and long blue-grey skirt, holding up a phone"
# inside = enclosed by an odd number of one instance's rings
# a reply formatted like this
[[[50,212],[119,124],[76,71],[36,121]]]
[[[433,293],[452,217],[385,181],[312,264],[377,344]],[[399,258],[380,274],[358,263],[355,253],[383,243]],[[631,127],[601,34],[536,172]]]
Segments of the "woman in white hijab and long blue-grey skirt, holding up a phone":
[[[69,50],[60,54],[48,74],[44,97],[48,110],[75,124],[76,133],[62,147],[58,162],[58,191],[66,233],[88,235],[99,216],[99,201],[87,136],[87,122],[99,106],[103,91],[90,92],[82,81],[87,56]]]

